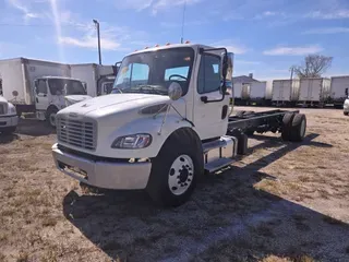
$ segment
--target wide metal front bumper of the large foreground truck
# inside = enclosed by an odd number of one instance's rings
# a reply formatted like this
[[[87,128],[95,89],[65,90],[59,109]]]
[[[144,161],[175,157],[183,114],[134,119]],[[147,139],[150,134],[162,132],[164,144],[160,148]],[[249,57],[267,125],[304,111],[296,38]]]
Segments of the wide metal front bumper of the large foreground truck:
[[[94,162],[68,154],[52,146],[57,168],[65,175],[87,184],[106,189],[144,189],[151,176],[152,163]],[[70,167],[70,168],[68,168]],[[71,170],[77,168],[86,176]]]

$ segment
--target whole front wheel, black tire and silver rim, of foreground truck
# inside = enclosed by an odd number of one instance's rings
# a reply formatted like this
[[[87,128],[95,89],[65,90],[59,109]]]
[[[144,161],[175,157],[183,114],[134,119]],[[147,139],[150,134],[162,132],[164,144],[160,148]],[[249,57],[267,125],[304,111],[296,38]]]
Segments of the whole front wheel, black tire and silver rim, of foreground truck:
[[[188,201],[204,172],[201,141],[190,129],[179,129],[152,160],[146,191],[161,206],[178,206]]]

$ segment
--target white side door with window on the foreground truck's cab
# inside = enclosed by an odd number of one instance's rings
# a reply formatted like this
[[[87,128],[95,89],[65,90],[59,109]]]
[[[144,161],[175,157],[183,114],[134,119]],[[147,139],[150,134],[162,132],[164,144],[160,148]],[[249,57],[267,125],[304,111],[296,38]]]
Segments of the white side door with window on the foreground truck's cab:
[[[194,96],[194,124],[201,140],[217,138],[227,132],[230,97],[226,95],[221,100],[220,53],[204,52],[201,56]]]

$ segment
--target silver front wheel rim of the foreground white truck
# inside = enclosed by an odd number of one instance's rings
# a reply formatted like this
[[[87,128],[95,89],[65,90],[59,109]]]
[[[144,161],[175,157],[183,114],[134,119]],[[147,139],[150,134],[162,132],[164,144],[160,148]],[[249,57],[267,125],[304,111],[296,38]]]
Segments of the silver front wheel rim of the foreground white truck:
[[[194,164],[189,155],[180,155],[174,159],[168,172],[168,186],[172,194],[183,194],[192,184]]]

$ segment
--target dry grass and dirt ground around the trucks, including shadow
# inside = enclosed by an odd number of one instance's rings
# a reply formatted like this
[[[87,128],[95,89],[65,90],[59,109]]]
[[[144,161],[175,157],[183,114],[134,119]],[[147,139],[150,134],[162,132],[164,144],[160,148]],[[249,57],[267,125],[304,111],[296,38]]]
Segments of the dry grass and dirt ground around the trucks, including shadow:
[[[349,118],[301,111],[302,143],[254,135],[167,210],[142,191],[83,192],[53,166],[56,134],[22,120],[0,134],[0,261],[349,261]]]

